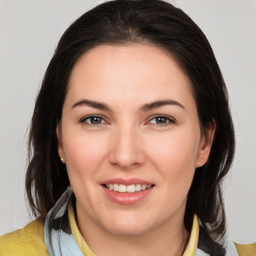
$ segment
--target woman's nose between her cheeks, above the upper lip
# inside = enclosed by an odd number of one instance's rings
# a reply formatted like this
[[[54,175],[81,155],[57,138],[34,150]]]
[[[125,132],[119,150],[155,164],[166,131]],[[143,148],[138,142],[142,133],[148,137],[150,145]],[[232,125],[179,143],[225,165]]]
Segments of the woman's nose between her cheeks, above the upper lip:
[[[122,169],[140,166],[145,161],[139,131],[133,127],[120,127],[111,139],[109,162]]]

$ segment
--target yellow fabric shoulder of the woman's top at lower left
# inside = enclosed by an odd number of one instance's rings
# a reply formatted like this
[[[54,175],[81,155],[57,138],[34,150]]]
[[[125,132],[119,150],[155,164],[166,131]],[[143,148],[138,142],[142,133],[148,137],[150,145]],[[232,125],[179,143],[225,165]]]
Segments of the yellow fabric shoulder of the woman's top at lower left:
[[[0,236],[0,255],[48,255],[44,243],[43,221],[37,218],[21,229]]]

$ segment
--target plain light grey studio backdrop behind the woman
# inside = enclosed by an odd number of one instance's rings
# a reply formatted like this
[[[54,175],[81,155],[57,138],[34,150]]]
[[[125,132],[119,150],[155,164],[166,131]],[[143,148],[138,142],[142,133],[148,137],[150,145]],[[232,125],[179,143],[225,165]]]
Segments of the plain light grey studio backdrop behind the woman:
[[[0,235],[23,227],[26,130],[67,26],[97,0],[0,0]],[[231,239],[256,241],[256,1],[172,0],[209,39],[229,92],[237,149],[224,197]]]

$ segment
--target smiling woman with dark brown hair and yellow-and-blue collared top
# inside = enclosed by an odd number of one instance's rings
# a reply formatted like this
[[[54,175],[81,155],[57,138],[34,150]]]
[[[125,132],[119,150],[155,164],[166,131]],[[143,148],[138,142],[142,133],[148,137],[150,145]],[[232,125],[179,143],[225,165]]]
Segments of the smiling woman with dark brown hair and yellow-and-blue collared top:
[[[39,218],[1,237],[3,255],[244,253],[225,238],[225,84],[204,34],[171,4],[109,1],[71,24],[36,99],[29,152]]]

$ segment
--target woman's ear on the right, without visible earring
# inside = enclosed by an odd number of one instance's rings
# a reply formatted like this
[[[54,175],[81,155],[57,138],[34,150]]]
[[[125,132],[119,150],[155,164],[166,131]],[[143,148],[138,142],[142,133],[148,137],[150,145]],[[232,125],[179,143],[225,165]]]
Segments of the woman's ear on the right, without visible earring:
[[[215,120],[212,120],[206,128],[205,134],[201,135],[200,145],[198,148],[198,154],[196,157],[195,167],[202,166],[208,159],[210,153],[210,147],[215,133]]]

